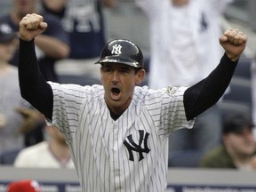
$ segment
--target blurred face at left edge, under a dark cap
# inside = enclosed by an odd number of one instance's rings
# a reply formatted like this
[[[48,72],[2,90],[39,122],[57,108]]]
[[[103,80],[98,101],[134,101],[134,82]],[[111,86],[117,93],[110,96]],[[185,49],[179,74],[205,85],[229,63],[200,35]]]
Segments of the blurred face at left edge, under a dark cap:
[[[12,59],[18,46],[18,39],[13,39],[11,42],[0,44],[0,60],[8,62]]]

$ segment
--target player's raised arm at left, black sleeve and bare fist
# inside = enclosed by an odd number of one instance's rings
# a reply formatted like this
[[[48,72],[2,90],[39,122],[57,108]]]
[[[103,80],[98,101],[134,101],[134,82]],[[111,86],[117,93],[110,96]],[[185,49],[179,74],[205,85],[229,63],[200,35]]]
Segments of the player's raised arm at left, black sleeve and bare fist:
[[[48,119],[52,119],[53,95],[50,84],[41,75],[34,39],[47,28],[43,17],[28,14],[20,21],[19,80],[21,96]]]

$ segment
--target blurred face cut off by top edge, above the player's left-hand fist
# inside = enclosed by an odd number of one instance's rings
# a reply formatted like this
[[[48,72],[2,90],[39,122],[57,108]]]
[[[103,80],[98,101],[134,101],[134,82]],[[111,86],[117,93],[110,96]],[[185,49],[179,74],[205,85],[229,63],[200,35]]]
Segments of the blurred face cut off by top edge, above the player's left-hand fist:
[[[35,12],[37,0],[13,0],[14,11],[19,17]]]

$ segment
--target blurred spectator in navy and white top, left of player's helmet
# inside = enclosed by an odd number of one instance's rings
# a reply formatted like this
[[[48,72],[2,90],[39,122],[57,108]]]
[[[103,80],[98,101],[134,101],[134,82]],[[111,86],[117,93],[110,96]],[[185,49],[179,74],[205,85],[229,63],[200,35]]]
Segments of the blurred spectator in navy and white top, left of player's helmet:
[[[106,44],[103,8],[116,0],[43,0],[44,12],[58,16],[68,32],[70,55],[58,62],[60,74],[92,76],[100,80],[99,66],[91,65]]]

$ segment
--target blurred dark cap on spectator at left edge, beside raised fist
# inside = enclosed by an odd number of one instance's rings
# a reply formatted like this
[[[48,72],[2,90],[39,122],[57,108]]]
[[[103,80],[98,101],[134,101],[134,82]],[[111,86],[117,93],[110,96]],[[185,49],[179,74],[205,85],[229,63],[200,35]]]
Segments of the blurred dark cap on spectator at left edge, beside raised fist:
[[[18,35],[12,31],[10,26],[7,24],[0,25],[0,44],[9,43],[15,38],[18,38]]]

